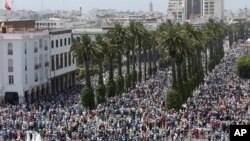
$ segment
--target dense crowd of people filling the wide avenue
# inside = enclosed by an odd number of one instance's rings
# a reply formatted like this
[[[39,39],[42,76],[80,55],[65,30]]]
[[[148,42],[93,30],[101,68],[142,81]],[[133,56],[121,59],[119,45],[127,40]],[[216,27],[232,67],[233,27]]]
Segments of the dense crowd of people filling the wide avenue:
[[[3,105],[0,141],[35,141],[37,136],[44,141],[227,140],[228,125],[250,124],[250,97],[244,87],[248,82],[238,78],[235,68],[243,53],[240,48],[229,50],[179,111],[163,106],[171,87],[170,69],[96,110],[79,104],[82,85],[47,100]]]

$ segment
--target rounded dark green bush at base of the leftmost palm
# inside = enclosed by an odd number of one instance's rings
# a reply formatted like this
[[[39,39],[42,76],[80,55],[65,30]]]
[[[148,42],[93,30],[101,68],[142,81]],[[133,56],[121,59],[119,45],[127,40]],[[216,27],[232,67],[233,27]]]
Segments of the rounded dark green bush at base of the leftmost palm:
[[[84,107],[88,107],[91,110],[94,109],[95,108],[95,95],[94,95],[93,89],[91,87],[85,86],[81,90],[80,100],[81,100],[81,104]]]

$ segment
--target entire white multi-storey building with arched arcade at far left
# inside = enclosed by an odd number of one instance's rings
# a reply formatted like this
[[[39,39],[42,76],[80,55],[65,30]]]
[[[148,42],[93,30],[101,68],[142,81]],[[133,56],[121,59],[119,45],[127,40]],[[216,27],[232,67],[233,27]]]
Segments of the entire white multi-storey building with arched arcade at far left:
[[[0,33],[0,103],[23,103],[72,86],[76,63],[69,53],[71,30],[37,31],[14,24]]]

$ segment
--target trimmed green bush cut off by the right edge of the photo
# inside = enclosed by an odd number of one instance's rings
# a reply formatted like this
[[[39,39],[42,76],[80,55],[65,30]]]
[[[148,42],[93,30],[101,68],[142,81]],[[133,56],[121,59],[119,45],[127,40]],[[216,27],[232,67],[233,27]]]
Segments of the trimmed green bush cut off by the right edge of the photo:
[[[250,56],[242,56],[240,57],[237,62],[237,73],[240,78],[250,78]]]

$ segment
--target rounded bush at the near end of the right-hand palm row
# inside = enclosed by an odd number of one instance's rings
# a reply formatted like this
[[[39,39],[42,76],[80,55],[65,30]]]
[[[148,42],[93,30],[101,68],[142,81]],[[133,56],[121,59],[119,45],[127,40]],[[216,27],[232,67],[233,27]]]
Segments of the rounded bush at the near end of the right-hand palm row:
[[[177,90],[170,89],[166,93],[166,102],[165,102],[165,107],[170,110],[170,109],[175,109],[179,110],[181,108],[181,93],[178,92]]]

